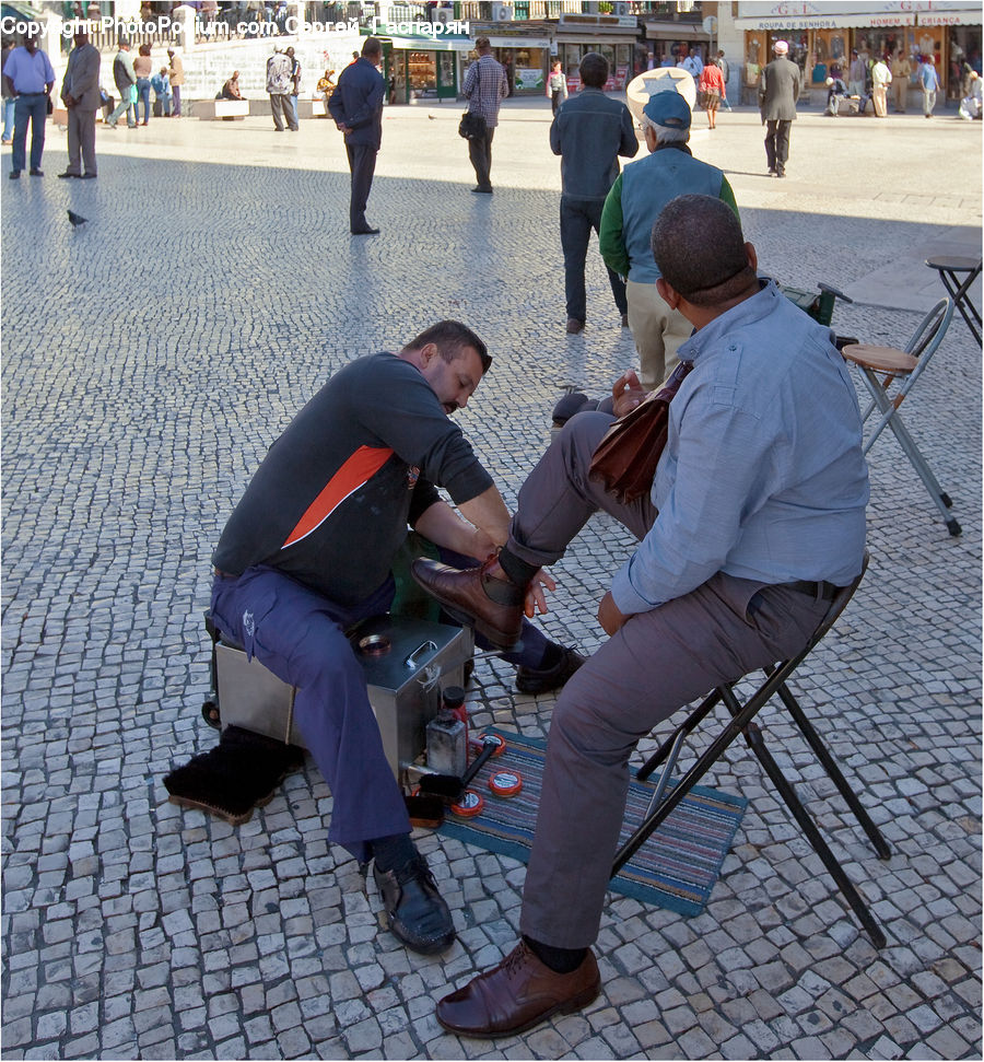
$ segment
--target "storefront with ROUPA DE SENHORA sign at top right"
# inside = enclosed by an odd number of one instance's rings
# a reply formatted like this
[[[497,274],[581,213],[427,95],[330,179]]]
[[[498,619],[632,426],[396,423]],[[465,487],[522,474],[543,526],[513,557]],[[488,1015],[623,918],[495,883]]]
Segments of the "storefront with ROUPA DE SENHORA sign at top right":
[[[735,27],[743,34],[743,84],[750,97],[776,40],[803,71],[804,91],[824,93],[828,77],[847,80],[852,50],[866,59],[901,50],[912,63],[911,86],[923,57],[932,56],[948,100],[958,100],[971,69],[981,68],[981,5],[974,0],[856,3],[739,2]]]

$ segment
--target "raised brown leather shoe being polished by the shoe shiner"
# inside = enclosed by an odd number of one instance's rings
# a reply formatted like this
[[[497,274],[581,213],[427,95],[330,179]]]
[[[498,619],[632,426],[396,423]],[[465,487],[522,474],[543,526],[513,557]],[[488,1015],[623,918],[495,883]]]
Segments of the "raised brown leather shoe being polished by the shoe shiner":
[[[473,626],[497,649],[512,649],[519,641],[526,588],[506,579],[494,557],[464,571],[418,557],[410,572],[455,619]]]

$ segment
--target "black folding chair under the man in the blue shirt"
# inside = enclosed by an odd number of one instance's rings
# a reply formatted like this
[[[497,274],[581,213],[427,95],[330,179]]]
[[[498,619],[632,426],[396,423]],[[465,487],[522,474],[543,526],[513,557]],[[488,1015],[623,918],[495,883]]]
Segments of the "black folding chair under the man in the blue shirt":
[[[843,866],[841,866],[837,857],[833,854],[827,842],[823,840],[823,837],[821,836],[816,822],[803,806],[799,797],[796,795],[796,790],[793,787],[793,784],[785,777],[785,774],[783,774],[778,765],[773,759],[772,754],[765,747],[765,739],[762,731],[754,722],[754,717],[758,715],[761,709],[774,696],[777,695],[793,721],[799,727],[804,738],[809,744],[810,748],[812,748],[817,758],[820,760],[823,769],[827,771],[828,777],[837,787],[837,791],[846,801],[847,806],[854,813],[855,818],[860,824],[865,833],[867,833],[875,847],[875,851],[878,853],[878,856],[887,860],[891,855],[891,850],[889,849],[885,838],[881,836],[878,827],[871,821],[868,813],[862,806],[857,794],[841,773],[841,770],[831,756],[827,745],[813,728],[805,712],[800,708],[799,702],[796,700],[789,690],[789,687],[786,685],[787,679],[793,675],[803,661],[809,656],[817,643],[831,629],[837,617],[844,610],[847,603],[854,595],[858,583],[860,583],[862,576],[864,575],[867,567],[868,556],[865,553],[860,575],[858,575],[850,586],[845,586],[834,597],[834,599],[831,602],[830,608],[828,609],[827,616],[817,628],[813,637],[809,640],[803,652],[773,667],[766,667],[765,681],[743,704],[739,702],[738,698],[734,693],[734,686],[736,684],[731,682],[726,686],[719,686],[708,697],[706,697],[704,701],[696,709],[694,709],[693,712],[691,712],[691,714],[673,731],[669,738],[663,743],[656,752],[654,752],[653,756],[646,760],[639,771],[637,778],[640,780],[648,778],[660,765],[665,765],[663,773],[660,774],[656,790],[653,794],[653,798],[649,802],[649,807],[646,809],[642,824],[616,853],[616,860],[611,871],[612,877],[614,877],[616,874],[618,874],[618,872],[625,865],[625,863],[632,859],[632,856],[645,843],[646,839],[656,829],[658,829],[660,824],[666,820],[673,808],[680,804],[684,796],[687,796],[687,794],[717,762],[717,760],[721,759],[725,750],[733,744],[738,735],[741,734],[745,736],[749,748],[751,748],[752,752],[754,752],[759,762],[762,765],[765,773],[772,780],[773,784],[778,791],[780,796],[785,802],[786,807],[789,808],[793,817],[799,824],[799,827],[806,835],[807,840],[810,842],[810,844],[812,844],[813,851],[816,851],[816,853],[820,856],[823,865],[827,867],[844,898],[854,910],[858,921],[865,927],[865,930],[867,930],[868,935],[871,937],[875,946],[878,948],[885,947],[885,933],[875,921],[875,918],[868,909],[867,903],[862,899],[857,889],[847,877],[847,874],[845,873]],[[670,777],[676,768],[677,759],[680,756],[684,742],[706,719],[711,710],[719,703],[724,703],[724,705],[728,709],[728,712],[731,715],[730,721],[725,726],[724,731],[722,731],[722,733],[714,738],[707,749],[698,758],[696,762],[680,778],[676,785],[670,789]]]

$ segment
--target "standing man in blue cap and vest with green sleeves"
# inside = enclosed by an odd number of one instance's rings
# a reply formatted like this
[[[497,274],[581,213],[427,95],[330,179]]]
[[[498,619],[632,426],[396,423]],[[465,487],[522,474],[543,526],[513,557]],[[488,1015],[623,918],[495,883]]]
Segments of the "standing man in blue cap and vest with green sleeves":
[[[651,234],[664,207],[684,194],[723,199],[736,213],[735,194],[725,175],[691,154],[690,105],[675,90],[651,96],[643,108],[649,154],[619,175],[601,212],[599,246],[612,272],[628,278],[629,327],[640,358],[643,387],[654,390],[677,363],[677,350],[691,326],[659,297],[659,269]]]

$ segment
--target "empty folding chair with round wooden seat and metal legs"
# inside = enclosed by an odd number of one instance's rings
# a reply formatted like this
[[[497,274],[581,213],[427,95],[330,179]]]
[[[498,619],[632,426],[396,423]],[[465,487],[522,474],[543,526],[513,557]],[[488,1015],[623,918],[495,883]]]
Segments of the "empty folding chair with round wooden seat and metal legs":
[[[871,395],[871,402],[865,410],[863,420],[867,422],[876,408],[881,413],[881,419],[865,443],[864,452],[867,454],[881,432],[886,428],[891,428],[903,453],[918,472],[919,479],[929,491],[929,497],[942,514],[947,530],[951,535],[959,535],[960,524],[948,512],[953,504],[950,495],[937,482],[926,458],[919,453],[899,413],[899,407],[929,364],[929,359],[942,342],[952,319],[953,303],[949,299],[940,299],[913,332],[905,350],[897,350],[894,347],[872,347],[868,343],[848,343],[841,353],[860,369],[862,378]],[[897,382],[900,386],[890,398],[889,390]]]

